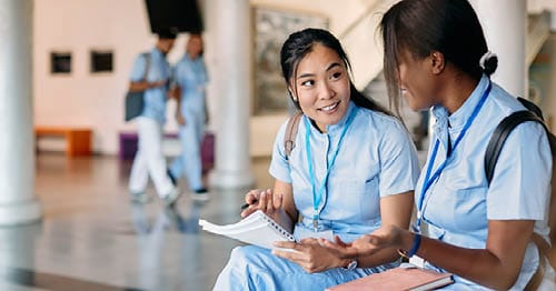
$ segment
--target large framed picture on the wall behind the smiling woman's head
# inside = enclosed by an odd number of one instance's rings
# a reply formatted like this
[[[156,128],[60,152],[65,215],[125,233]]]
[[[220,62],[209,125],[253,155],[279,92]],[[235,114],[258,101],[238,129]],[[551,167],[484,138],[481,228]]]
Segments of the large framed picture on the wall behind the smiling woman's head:
[[[299,11],[255,7],[254,116],[286,112],[289,101],[280,68],[280,49],[288,36],[304,28],[328,28],[328,19]]]

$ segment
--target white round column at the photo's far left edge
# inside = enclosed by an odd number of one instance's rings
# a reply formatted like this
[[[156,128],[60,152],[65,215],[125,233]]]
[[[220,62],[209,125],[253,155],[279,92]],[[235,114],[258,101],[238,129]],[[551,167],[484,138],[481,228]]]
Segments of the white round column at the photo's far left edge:
[[[36,221],[32,0],[0,0],[0,225]]]

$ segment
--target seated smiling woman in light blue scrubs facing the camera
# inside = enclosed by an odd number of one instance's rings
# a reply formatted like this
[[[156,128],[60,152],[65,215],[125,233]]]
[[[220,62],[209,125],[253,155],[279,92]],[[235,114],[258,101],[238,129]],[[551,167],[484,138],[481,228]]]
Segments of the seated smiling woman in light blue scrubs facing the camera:
[[[384,223],[409,227],[419,168],[407,130],[354,87],[346,52],[330,32],[290,34],[280,62],[304,113],[296,147],[286,154],[285,122],[269,169],[274,190],[247,193],[241,217],[265,211],[299,242],[234,249],[215,290],[324,290],[399,263],[396,249],[340,259],[316,238],[350,241]]]

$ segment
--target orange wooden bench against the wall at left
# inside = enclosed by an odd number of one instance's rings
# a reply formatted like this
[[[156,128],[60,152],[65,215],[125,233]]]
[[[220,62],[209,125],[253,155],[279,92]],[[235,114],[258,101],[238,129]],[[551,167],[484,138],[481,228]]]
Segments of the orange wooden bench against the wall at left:
[[[87,128],[36,127],[34,137],[60,137],[66,139],[66,155],[90,155],[92,130]]]

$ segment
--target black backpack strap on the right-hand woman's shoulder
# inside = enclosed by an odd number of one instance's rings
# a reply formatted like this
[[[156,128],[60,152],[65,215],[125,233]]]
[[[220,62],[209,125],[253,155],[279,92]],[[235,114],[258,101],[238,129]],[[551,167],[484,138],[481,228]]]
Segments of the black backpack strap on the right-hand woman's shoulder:
[[[487,150],[485,153],[485,173],[487,177],[488,184],[490,184],[490,181],[493,180],[496,161],[500,155],[502,148],[504,147],[506,139],[519,123],[523,123],[525,121],[538,122],[543,124],[545,130],[548,132],[548,129],[546,128],[543,120],[537,116],[535,116],[535,113],[530,112],[529,110],[516,111],[506,117],[505,119],[503,119],[498,124],[498,127],[496,127],[496,129],[494,130],[493,137],[488,142]]]

